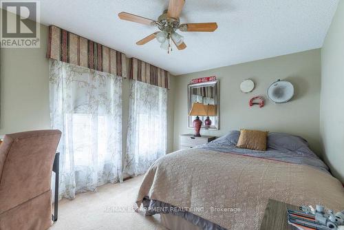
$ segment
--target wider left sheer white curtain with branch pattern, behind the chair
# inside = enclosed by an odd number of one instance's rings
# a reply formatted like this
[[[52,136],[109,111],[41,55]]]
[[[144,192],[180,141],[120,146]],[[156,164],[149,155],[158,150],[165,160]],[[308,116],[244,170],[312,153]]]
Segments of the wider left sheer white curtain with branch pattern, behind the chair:
[[[63,133],[60,198],[122,180],[122,78],[51,60],[50,115]]]

